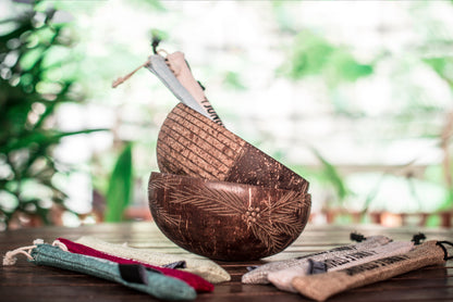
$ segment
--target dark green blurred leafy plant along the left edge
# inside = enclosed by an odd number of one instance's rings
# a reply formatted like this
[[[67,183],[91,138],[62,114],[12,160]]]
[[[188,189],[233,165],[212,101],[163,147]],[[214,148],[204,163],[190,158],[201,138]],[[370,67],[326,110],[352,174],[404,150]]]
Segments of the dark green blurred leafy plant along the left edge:
[[[52,183],[64,173],[52,149],[64,137],[98,130],[54,128],[58,104],[83,97],[70,72],[66,24],[53,24],[57,11],[38,10],[39,3],[22,4],[22,13],[0,22],[7,28],[0,33],[0,211],[7,227],[21,214],[52,223],[52,206],[65,209],[65,193]]]

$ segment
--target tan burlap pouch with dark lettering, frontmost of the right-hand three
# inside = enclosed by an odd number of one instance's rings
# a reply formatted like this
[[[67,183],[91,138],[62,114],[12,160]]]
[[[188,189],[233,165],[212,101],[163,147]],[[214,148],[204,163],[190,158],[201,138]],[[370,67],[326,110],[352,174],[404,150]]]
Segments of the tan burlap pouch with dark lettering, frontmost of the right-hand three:
[[[427,241],[408,253],[384,257],[338,272],[296,277],[292,285],[303,295],[317,301],[325,301],[329,297],[347,289],[385,280],[427,265],[444,264],[444,252],[436,243],[437,241]]]

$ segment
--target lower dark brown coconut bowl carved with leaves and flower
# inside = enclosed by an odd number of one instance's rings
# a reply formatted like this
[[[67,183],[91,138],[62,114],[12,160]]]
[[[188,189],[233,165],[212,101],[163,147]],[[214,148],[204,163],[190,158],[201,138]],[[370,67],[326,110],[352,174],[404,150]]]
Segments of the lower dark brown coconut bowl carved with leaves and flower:
[[[279,253],[303,231],[310,196],[302,190],[151,173],[149,207],[181,248],[215,260],[248,261]]]

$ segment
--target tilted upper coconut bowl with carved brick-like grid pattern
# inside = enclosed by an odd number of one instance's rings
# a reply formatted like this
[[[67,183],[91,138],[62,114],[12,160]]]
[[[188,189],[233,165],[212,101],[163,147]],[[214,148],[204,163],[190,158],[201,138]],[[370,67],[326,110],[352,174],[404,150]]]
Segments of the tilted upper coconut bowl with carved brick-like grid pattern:
[[[157,141],[162,173],[307,192],[308,181],[183,103],[167,116]]]

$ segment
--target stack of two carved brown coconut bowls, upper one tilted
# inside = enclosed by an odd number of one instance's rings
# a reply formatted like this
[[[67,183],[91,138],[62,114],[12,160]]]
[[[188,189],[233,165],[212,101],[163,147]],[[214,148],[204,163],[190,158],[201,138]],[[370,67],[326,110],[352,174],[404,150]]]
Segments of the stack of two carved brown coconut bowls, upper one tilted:
[[[284,250],[307,224],[307,180],[184,103],[161,126],[157,160],[152,217],[189,252],[258,260]]]

